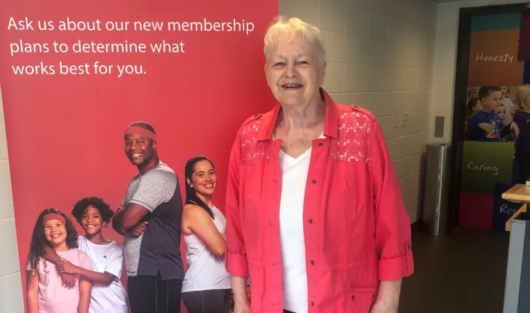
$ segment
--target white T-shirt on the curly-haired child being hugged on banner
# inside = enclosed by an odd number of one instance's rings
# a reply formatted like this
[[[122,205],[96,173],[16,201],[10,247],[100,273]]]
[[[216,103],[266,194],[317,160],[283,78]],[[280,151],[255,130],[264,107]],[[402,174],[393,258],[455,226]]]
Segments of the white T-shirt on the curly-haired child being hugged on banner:
[[[120,280],[123,266],[123,250],[118,242],[93,244],[85,236],[77,239],[79,250],[90,256],[94,271],[108,272],[116,276],[111,285],[94,284],[90,294],[89,313],[128,313],[127,292]]]

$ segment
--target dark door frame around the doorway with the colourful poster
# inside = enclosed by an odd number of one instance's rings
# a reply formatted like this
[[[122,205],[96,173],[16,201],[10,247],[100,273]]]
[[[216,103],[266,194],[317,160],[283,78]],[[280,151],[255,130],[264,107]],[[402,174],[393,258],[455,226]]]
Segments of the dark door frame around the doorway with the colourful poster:
[[[454,74],[453,124],[451,132],[451,174],[449,178],[449,203],[447,230],[458,226],[460,205],[460,179],[464,143],[465,108],[467,105],[467,75],[469,74],[469,45],[472,18],[481,15],[502,15],[528,10],[529,3],[501,4],[476,8],[460,8],[458,40],[456,45],[456,69]]]

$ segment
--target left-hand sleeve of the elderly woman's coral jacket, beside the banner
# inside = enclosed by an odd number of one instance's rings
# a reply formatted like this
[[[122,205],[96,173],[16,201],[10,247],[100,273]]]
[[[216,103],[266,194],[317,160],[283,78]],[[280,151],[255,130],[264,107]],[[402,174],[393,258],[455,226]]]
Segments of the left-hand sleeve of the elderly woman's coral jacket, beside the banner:
[[[239,135],[236,137],[230,162],[228,164],[228,183],[226,194],[226,258],[225,268],[232,276],[248,277],[248,261],[246,256],[241,208],[239,207],[239,166],[241,144]]]

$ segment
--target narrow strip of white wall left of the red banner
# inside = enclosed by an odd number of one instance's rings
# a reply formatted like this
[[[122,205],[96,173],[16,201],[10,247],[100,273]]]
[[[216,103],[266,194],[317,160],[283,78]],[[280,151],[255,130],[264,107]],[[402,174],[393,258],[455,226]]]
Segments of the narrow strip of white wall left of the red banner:
[[[0,312],[24,312],[6,125],[0,94]]]

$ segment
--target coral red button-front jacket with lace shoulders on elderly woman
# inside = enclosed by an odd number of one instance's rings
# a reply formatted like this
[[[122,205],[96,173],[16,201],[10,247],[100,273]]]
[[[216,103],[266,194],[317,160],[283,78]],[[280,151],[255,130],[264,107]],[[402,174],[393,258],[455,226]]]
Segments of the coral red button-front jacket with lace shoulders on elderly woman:
[[[414,271],[410,219],[374,115],[326,99],[312,145],[303,217],[309,312],[368,313],[380,280]],[[250,276],[253,313],[282,313],[280,105],[237,134],[227,186],[226,269]]]

